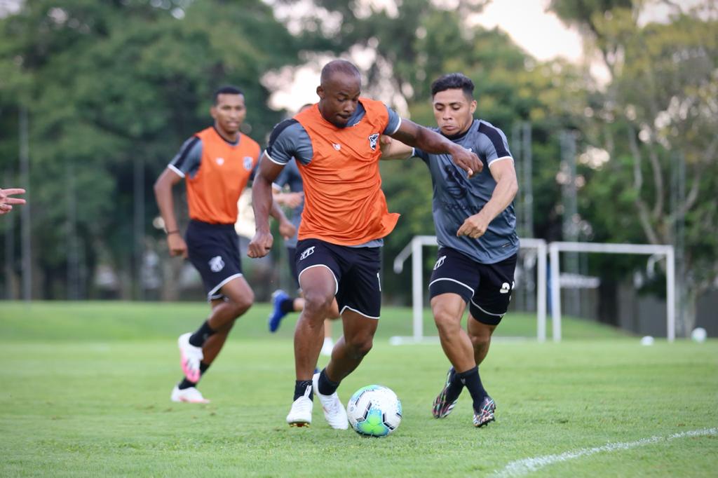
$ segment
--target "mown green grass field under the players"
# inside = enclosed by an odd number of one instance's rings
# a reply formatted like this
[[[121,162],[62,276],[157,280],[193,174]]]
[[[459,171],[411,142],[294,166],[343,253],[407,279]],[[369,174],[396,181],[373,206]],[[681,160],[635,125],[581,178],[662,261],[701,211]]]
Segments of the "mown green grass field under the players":
[[[438,345],[388,345],[411,334],[411,311],[386,307],[373,350],[339,392],[346,401],[388,385],[404,421],[365,439],[329,428],[318,406],[311,428],[286,426],[294,318],[269,334],[264,304],[202,380],[212,403],[170,402],[177,335],[206,311],[0,302],[0,477],[716,476],[714,339],[642,347],[578,320],[564,322],[561,344],[497,339],[482,365],[497,421],[476,429],[466,393],[451,416],[432,418],[448,362]],[[510,314],[498,330],[531,337],[535,327]]]

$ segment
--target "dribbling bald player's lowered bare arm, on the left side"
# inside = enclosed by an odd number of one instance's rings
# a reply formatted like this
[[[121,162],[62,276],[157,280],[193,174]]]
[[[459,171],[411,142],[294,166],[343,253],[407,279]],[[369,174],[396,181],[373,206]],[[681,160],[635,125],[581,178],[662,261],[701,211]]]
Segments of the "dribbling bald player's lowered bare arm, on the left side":
[[[269,231],[269,212],[276,207],[272,199],[272,183],[283,168],[284,164],[276,164],[266,154],[259,160],[259,170],[252,186],[252,208],[256,233],[247,248],[247,256],[251,258],[266,256],[274,242]]]

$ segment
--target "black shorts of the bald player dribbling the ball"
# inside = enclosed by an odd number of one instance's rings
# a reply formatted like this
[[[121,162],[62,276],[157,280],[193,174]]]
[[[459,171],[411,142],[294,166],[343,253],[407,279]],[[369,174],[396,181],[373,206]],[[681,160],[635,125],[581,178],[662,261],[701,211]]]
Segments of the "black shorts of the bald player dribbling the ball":
[[[378,319],[381,314],[380,248],[350,248],[319,239],[297,243],[299,277],[311,267],[326,267],[334,275],[340,314],[350,309]]]

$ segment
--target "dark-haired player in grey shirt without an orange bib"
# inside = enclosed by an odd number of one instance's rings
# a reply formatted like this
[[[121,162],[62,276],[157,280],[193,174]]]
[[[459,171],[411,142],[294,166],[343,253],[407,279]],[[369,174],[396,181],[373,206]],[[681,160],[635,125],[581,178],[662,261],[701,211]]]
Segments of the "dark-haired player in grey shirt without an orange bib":
[[[483,388],[478,365],[513,290],[518,252],[513,197],[518,183],[506,136],[488,121],[474,119],[473,94],[474,84],[461,73],[444,75],[432,84],[436,131],[479,156],[485,167],[475,177],[465,177],[447,154],[391,140],[383,140],[382,148],[385,159],[419,157],[434,184],[439,253],[429,294],[439,338],[452,364],[434,400],[434,417],[449,415],[466,387],[473,400],[473,422],[479,427],[494,420],[496,409]],[[467,305],[465,332],[461,319]]]

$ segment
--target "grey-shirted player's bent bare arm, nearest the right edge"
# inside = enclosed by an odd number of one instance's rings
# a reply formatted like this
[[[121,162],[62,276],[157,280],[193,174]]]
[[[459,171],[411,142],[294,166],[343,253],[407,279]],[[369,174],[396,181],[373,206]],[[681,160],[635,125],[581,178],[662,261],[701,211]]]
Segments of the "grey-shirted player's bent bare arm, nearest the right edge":
[[[491,175],[496,180],[491,199],[477,214],[467,217],[467,220],[457,230],[456,235],[467,235],[470,238],[480,238],[499,213],[508,207],[518,192],[516,181],[516,169],[513,167],[513,159],[506,158],[494,161],[489,166]]]

